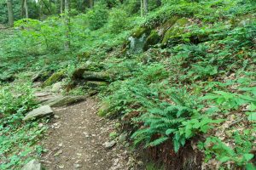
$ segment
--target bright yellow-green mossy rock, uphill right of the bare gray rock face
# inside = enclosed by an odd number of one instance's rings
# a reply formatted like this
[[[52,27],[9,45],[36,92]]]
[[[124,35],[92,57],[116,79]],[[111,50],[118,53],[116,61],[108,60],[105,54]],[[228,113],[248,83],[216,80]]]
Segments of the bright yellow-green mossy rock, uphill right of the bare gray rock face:
[[[184,26],[189,23],[189,20],[182,18],[178,19],[175,24],[166,31],[165,36],[163,38],[162,44],[166,44],[171,39],[177,39],[182,36]]]

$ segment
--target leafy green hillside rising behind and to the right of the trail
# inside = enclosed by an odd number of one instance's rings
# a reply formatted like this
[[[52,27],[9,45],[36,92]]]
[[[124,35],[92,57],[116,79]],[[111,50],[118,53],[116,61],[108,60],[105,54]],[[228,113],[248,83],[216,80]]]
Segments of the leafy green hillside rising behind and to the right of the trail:
[[[98,115],[118,119],[116,133],[126,132],[145,160],[166,169],[255,169],[255,4],[166,1],[142,18],[129,14],[131,5],[99,3],[71,17],[68,51],[59,17],[19,20],[0,45],[0,104],[17,100],[0,110],[1,123],[15,114],[19,122],[36,105],[32,87],[24,90],[31,98],[16,98],[10,86],[61,82],[63,94],[97,94]]]

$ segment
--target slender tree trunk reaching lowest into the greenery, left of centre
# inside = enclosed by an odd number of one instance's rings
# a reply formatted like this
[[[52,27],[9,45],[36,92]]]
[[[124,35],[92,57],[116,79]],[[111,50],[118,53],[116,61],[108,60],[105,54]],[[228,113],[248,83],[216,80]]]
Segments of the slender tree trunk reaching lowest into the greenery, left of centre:
[[[67,27],[66,31],[66,42],[65,42],[65,50],[69,51],[70,49],[70,18],[69,18],[69,0],[65,0],[65,24]]]

